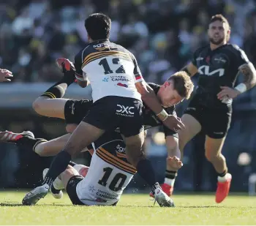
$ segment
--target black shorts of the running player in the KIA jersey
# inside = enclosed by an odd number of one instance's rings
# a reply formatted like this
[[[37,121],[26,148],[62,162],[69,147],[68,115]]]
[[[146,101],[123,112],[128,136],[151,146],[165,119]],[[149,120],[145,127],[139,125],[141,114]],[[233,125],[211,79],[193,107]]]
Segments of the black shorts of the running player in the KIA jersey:
[[[232,108],[208,108],[195,99],[184,112],[193,116],[201,125],[203,132],[210,138],[225,138],[230,128]]]

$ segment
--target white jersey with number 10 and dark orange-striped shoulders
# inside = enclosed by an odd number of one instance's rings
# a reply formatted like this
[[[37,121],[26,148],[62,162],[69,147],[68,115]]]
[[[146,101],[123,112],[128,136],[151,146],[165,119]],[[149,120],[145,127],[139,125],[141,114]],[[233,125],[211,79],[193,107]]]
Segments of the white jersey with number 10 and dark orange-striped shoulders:
[[[78,198],[88,206],[113,205],[135,173],[127,162],[124,141],[111,140],[94,151],[89,171],[76,187]]]

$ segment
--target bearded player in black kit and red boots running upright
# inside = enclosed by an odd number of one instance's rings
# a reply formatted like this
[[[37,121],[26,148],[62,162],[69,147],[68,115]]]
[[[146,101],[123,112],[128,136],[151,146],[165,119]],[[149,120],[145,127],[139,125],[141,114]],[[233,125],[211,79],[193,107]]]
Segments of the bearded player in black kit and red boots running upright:
[[[227,43],[230,25],[222,15],[214,15],[208,26],[209,45],[195,51],[192,62],[184,67],[190,76],[199,74],[198,87],[181,121],[185,129],[178,132],[181,157],[184,147],[198,132],[206,134],[206,158],[218,174],[216,202],[221,203],[230,190],[232,176],[227,173],[227,164],[222,154],[227,131],[230,127],[232,99],[249,90],[256,83],[253,64],[244,50]],[[234,87],[238,72],[244,75],[244,83]],[[170,195],[177,170],[166,171],[170,184],[162,189]],[[171,191],[171,192],[170,192]]]

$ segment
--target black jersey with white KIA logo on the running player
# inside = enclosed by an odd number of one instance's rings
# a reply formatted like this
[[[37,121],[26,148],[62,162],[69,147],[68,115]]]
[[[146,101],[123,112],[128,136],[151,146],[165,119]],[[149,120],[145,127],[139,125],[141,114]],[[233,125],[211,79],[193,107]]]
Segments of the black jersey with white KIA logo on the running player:
[[[226,44],[215,50],[211,50],[210,45],[198,48],[192,59],[199,75],[193,98],[211,108],[226,108],[232,100],[223,103],[217,99],[217,94],[221,91],[220,86],[233,87],[239,67],[248,63],[244,50],[237,45]]]

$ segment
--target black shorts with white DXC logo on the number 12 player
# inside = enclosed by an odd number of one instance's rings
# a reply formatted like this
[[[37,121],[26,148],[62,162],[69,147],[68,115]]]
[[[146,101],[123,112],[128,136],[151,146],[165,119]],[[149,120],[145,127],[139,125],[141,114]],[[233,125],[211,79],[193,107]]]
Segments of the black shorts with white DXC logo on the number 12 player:
[[[128,97],[103,97],[93,103],[83,121],[108,131],[118,127],[125,137],[138,135],[143,130],[142,102]]]

